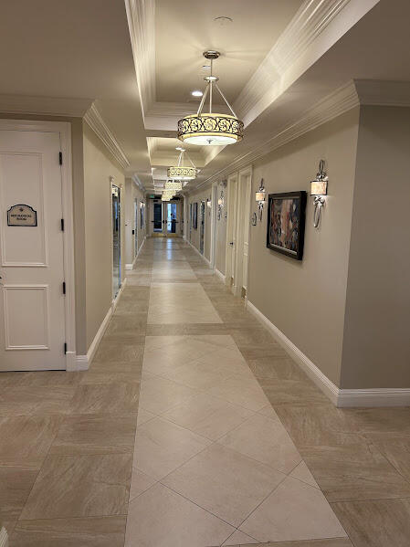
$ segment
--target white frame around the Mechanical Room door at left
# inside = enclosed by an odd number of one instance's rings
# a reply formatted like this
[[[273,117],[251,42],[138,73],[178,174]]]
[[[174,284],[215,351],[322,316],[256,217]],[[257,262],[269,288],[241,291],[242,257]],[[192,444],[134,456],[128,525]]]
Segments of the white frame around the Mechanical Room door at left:
[[[76,363],[76,298],[74,270],[74,216],[71,157],[71,124],[68,121],[0,120],[2,131],[58,132],[60,151],[63,154],[61,170],[61,205],[64,218],[63,271],[66,281],[64,300],[66,330],[66,370],[78,370]],[[58,158],[56,158],[58,161]]]

